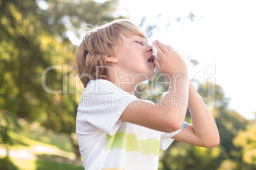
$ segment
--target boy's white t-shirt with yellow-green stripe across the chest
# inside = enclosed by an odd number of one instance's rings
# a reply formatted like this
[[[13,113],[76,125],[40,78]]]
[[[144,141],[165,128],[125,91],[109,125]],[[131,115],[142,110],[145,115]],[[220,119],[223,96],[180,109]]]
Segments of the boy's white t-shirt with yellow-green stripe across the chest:
[[[76,135],[85,170],[157,170],[159,147],[166,150],[173,133],[118,120],[129,103],[140,100],[110,81],[90,81],[76,115]],[[152,102],[149,100],[142,100]]]

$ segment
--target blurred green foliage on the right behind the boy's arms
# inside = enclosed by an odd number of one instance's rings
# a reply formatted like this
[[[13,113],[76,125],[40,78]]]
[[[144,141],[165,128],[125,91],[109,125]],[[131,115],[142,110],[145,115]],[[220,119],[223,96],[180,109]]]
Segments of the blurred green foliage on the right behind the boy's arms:
[[[158,75],[159,72],[156,72],[154,79],[148,81],[148,84],[140,84],[138,86],[136,95],[139,98],[154,102],[162,98],[162,92],[166,91],[169,85],[160,84],[159,86],[158,82],[166,81],[163,76],[159,76],[159,81],[157,81]],[[161,91],[156,91],[156,88],[161,89]],[[215,91],[209,93],[209,90],[213,89]],[[254,142],[254,136],[256,136],[255,128],[254,130],[251,129],[250,133],[248,132],[249,130],[245,131],[250,122],[246,121],[238,112],[229,109],[229,98],[225,97],[224,90],[220,85],[208,82],[199,84],[197,90],[201,96],[204,96],[204,102],[210,108],[213,117],[215,117],[220,133],[220,145],[214,148],[202,148],[174,141],[171,147],[160,155],[159,169],[253,169],[252,161],[254,161],[256,153],[254,146],[256,143]],[[213,106],[213,104],[215,105]],[[191,122],[189,111],[187,111],[185,121]],[[236,138],[241,138],[239,136],[243,136],[243,140],[236,140]],[[249,143],[254,144],[249,147],[250,149],[243,147],[243,151],[241,151],[241,147],[250,145]],[[250,163],[246,163],[245,157],[248,157],[247,159]]]

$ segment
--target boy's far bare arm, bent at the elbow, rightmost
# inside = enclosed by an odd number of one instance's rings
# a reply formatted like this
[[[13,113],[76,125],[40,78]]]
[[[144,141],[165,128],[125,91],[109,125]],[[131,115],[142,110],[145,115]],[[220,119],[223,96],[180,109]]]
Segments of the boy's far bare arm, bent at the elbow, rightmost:
[[[206,107],[197,90],[189,83],[188,109],[192,124],[188,124],[180,133],[173,136],[174,140],[183,141],[200,147],[215,147],[220,136],[211,112]]]

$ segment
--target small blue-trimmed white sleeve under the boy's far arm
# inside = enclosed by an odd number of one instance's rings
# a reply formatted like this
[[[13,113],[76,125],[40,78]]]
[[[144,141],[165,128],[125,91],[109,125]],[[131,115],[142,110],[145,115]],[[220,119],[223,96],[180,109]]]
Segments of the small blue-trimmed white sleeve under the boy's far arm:
[[[174,139],[172,139],[171,137],[175,136],[176,134],[180,133],[180,131],[187,125],[187,122],[183,122],[183,126],[178,129],[177,131],[173,131],[171,133],[165,133],[165,132],[161,132],[160,135],[160,148],[162,150],[166,150],[171,143],[173,143]]]

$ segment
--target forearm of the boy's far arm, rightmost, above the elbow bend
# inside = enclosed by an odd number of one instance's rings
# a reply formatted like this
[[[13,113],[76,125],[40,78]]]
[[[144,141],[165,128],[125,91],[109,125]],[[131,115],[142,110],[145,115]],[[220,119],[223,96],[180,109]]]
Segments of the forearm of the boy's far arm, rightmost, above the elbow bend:
[[[188,109],[197,138],[203,143],[218,143],[219,134],[215,121],[191,81],[189,82]]]

